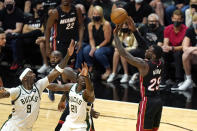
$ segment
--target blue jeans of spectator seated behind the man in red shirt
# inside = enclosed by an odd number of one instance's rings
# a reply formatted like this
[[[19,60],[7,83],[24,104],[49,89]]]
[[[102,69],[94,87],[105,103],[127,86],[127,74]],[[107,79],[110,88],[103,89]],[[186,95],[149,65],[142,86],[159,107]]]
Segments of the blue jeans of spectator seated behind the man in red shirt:
[[[185,18],[185,10],[189,8],[189,5],[183,6],[181,8],[181,12],[183,13],[183,18]],[[166,18],[166,25],[172,24],[172,14],[176,10],[176,5],[170,5],[165,9],[165,18]]]

